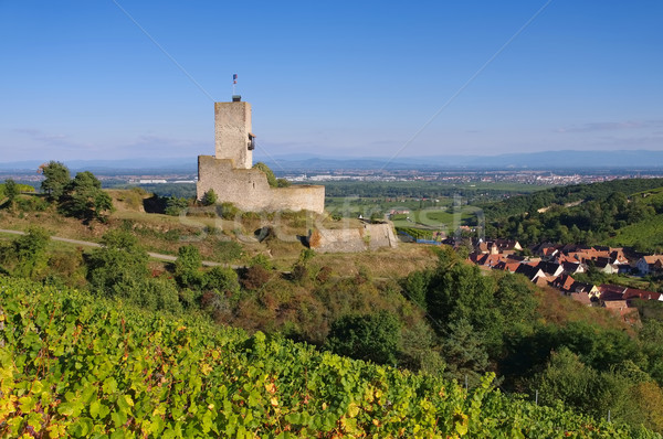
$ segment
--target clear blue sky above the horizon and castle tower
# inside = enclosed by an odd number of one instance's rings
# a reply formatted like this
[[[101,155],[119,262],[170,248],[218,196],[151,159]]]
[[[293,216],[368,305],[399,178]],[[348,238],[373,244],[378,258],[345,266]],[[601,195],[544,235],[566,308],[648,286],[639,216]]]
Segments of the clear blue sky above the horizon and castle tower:
[[[662,149],[663,2],[552,0],[485,65],[546,3],[0,0],[0,161],[211,154],[233,73],[259,159]]]

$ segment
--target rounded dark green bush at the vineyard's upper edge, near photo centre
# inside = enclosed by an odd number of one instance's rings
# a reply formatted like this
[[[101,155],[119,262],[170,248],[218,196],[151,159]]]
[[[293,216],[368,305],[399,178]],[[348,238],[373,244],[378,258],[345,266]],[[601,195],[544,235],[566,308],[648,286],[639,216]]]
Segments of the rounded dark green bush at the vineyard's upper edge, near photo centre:
[[[326,347],[352,358],[396,364],[401,349],[400,322],[387,311],[344,315],[332,324]]]

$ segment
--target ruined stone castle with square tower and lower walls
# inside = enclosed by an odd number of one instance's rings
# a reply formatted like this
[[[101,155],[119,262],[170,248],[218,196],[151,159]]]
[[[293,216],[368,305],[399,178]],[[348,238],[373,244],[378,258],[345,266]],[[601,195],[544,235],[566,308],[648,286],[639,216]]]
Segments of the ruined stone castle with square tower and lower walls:
[[[198,156],[197,196],[213,190],[219,203],[248,212],[325,210],[325,186],[271,188],[266,175],[253,169],[255,136],[251,131],[251,104],[233,96],[214,103],[215,154]]]

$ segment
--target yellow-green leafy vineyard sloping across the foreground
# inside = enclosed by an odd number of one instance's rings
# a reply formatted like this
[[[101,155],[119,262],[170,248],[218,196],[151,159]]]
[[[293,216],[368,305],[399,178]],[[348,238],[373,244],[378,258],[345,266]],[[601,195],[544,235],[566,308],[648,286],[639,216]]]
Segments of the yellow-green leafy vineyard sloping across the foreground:
[[[660,437],[7,277],[0,346],[1,437]]]

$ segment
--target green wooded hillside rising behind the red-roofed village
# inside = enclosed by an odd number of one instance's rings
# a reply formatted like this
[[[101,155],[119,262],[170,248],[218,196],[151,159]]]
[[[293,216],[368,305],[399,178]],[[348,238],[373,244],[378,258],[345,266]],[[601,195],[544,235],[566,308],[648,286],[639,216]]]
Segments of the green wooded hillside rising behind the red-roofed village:
[[[483,206],[486,236],[541,242],[663,248],[663,180],[579,184]]]

